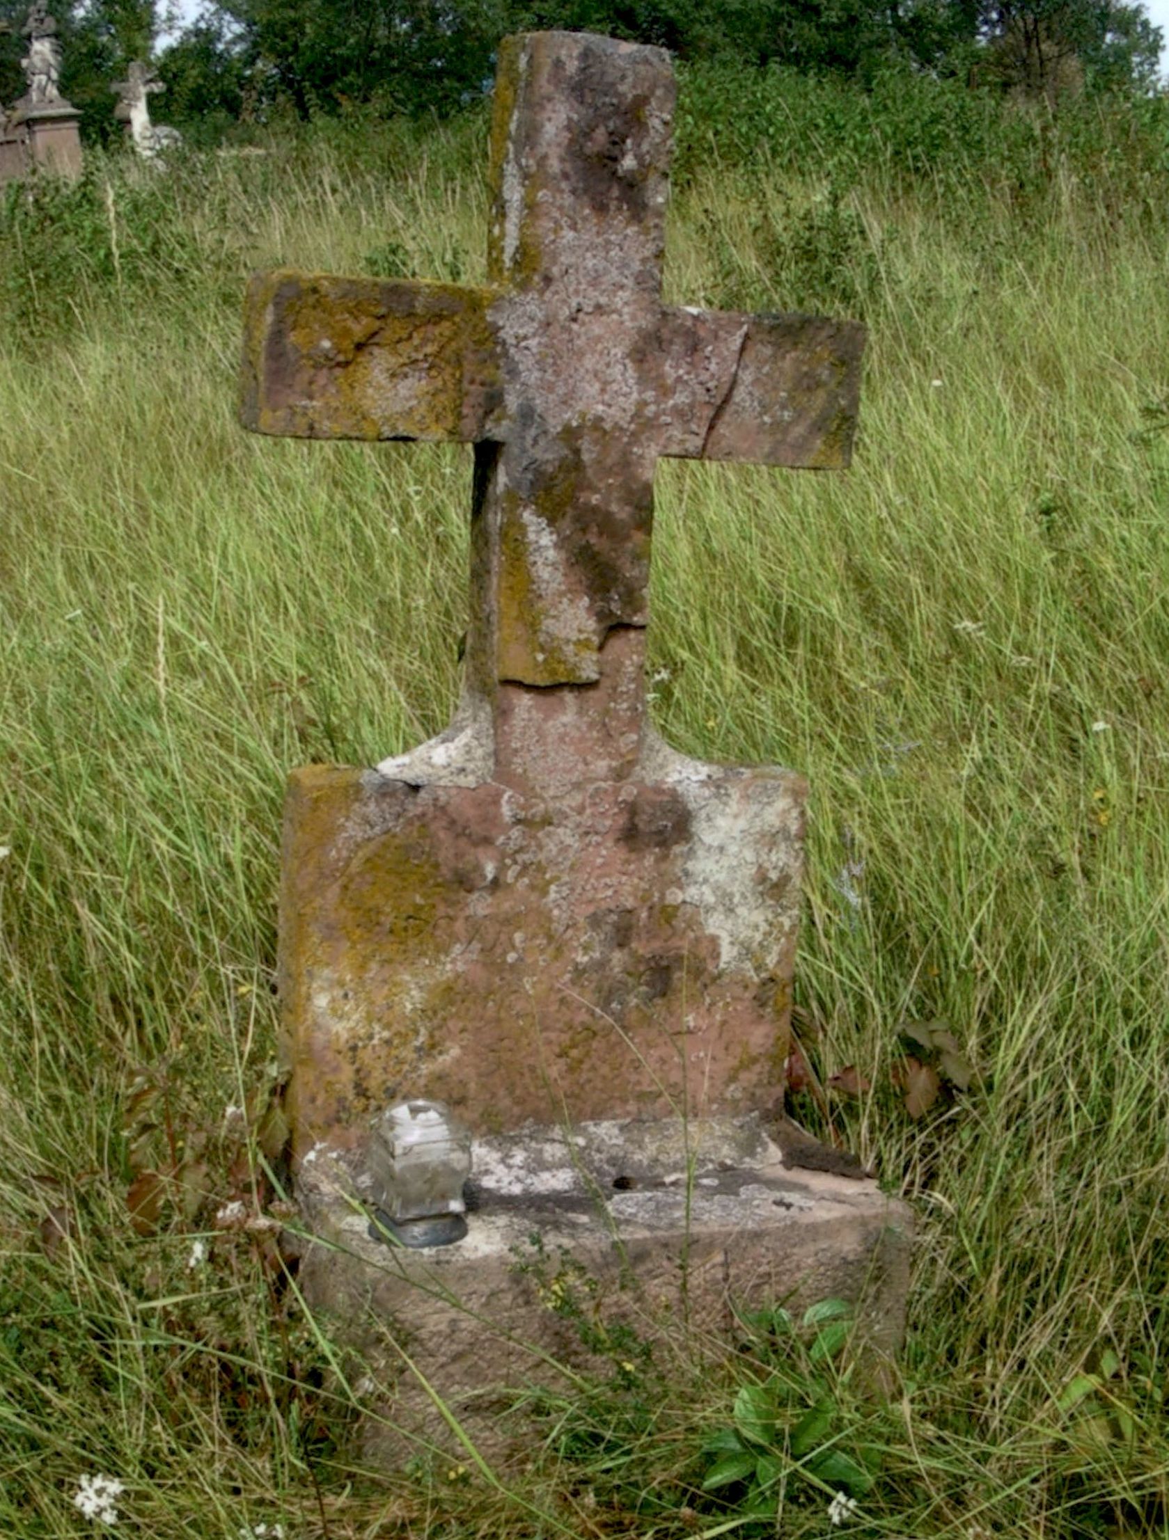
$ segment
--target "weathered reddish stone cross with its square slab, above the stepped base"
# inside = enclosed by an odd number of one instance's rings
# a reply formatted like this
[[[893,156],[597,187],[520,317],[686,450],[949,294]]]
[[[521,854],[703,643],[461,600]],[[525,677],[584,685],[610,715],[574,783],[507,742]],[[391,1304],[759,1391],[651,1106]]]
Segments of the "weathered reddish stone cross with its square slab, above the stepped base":
[[[781,1093],[806,787],[687,759],[647,722],[653,470],[846,465],[864,333],[662,303],[673,99],[661,49],[508,38],[487,286],[251,283],[246,427],[474,445],[451,725],[290,784],[302,1155],[359,1152],[404,1096],[496,1132]]]

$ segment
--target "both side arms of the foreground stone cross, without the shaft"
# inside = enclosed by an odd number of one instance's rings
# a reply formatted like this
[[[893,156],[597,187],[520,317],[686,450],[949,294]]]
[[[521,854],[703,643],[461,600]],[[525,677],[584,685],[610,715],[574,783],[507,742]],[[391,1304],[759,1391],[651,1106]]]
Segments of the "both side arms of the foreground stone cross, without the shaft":
[[[259,274],[246,302],[243,422],[302,439],[505,439],[496,322],[507,303],[497,290],[454,283]],[[645,345],[659,382],[648,397],[659,454],[849,464],[858,322],[664,306]]]

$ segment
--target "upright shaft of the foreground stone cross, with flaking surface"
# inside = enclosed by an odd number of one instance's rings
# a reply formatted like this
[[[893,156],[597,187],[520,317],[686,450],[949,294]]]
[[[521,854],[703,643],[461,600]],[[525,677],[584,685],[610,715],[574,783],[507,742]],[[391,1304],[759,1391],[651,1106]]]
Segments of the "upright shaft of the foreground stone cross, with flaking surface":
[[[504,45],[490,277],[508,430],[477,450],[470,654],[496,775],[530,790],[636,759],[673,94],[658,49]]]

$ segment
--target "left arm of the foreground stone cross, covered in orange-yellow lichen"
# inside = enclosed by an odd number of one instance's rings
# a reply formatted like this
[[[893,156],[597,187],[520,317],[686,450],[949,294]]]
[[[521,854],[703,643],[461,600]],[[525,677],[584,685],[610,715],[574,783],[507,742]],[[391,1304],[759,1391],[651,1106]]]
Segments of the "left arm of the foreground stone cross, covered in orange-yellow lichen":
[[[299,439],[493,437],[488,288],[280,270],[248,286],[240,416]]]

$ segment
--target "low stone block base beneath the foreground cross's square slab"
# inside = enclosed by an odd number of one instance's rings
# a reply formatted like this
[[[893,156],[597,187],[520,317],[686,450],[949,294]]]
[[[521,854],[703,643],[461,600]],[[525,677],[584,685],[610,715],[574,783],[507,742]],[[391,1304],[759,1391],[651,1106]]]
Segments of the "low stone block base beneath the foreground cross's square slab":
[[[359,1360],[374,1465],[467,1458],[436,1397],[496,1465],[530,1455],[531,1424],[508,1409],[533,1386],[571,1397],[573,1371],[599,1368],[581,1318],[693,1364],[733,1348],[742,1311],[844,1298],[876,1374],[901,1343],[907,1207],[870,1180],[785,1166],[758,1115],[479,1140],[468,1235],[445,1247],[371,1238],[362,1189],[325,1146],[302,1161],[299,1284]]]

